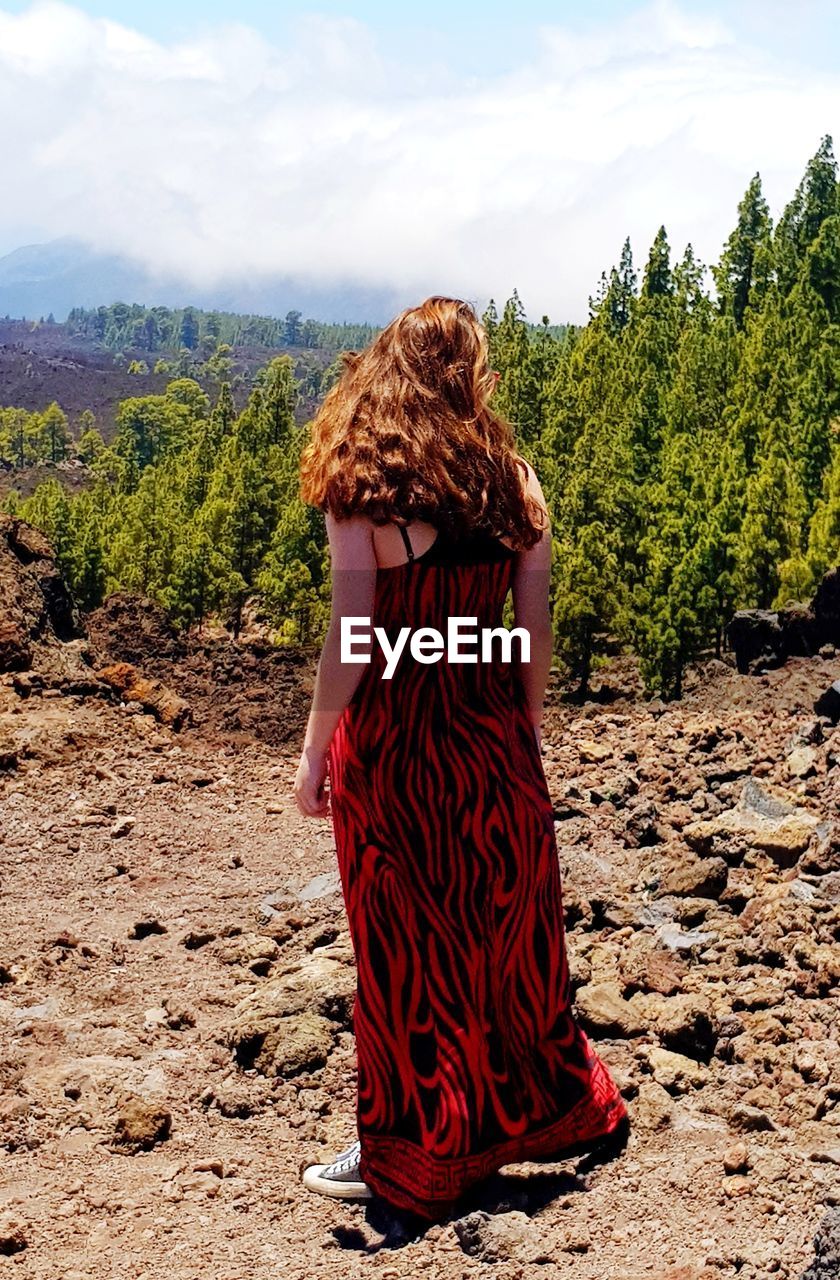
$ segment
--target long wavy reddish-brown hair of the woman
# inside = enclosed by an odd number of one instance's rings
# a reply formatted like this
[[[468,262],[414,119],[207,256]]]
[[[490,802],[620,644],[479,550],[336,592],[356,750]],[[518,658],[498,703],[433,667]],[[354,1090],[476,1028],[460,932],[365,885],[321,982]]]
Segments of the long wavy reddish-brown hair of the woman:
[[[487,334],[469,302],[426,298],[342,361],[301,456],[303,502],[337,520],[425,520],[534,545],[544,512],[525,494],[510,424],[489,407]]]

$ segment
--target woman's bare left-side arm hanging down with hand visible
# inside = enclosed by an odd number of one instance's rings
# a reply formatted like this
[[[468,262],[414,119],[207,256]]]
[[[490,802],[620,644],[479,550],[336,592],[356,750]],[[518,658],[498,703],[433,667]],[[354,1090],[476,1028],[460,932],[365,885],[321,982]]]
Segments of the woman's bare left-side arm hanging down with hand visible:
[[[328,515],[327,535],[332,566],[330,617],[295,780],[295,799],[300,810],[310,818],[323,817],[328,812],[324,795],[327,753],[365,671],[361,663],[341,660],[341,620],[346,616],[371,617],[376,586],[376,557],[370,521],[356,516],[337,521]]]

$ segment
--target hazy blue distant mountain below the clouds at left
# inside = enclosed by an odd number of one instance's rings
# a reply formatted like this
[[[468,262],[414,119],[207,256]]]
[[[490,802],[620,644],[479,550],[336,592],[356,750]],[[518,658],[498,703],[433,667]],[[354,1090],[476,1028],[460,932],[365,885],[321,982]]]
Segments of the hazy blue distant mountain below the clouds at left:
[[[52,312],[64,320],[72,307],[141,302],[270,316],[301,311],[327,323],[385,324],[411,301],[387,289],[319,287],[279,275],[201,289],[187,280],[151,275],[132,259],[97,253],[72,237],[27,244],[0,257],[0,316],[38,319]]]

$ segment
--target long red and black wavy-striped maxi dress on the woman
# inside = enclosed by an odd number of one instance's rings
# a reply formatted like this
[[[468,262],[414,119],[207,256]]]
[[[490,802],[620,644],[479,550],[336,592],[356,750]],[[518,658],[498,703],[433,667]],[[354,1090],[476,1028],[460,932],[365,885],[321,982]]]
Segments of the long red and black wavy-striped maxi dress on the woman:
[[[410,541],[405,536],[407,548]],[[442,532],[376,572],[373,625],[502,625],[515,556]],[[515,648],[516,648],[515,641]],[[329,754],[357,965],[361,1178],[426,1219],[502,1165],[562,1157],[626,1115],[578,1025],[553,809],[516,667],[382,648]]]

